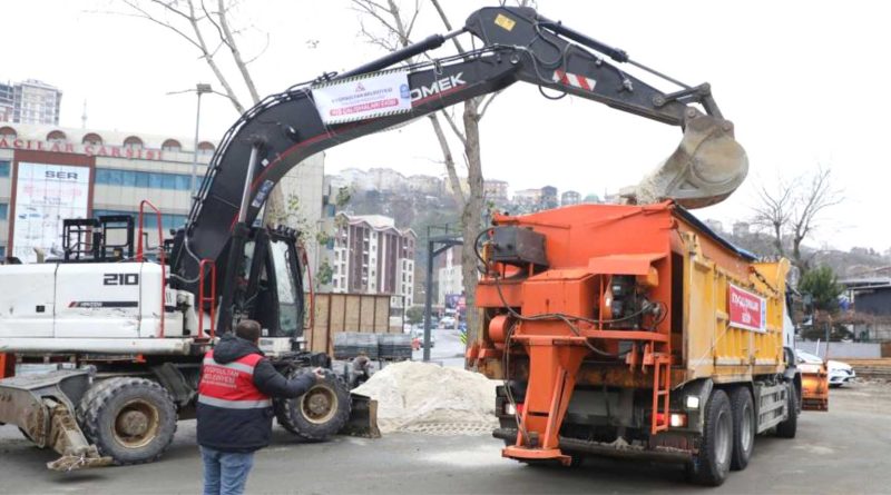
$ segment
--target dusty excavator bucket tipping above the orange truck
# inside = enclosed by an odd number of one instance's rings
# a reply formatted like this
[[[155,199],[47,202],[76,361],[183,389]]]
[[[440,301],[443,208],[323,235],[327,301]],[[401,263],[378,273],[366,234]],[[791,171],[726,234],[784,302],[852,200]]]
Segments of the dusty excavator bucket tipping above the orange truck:
[[[684,138],[674,154],[637,186],[624,188],[630,202],[672,199],[688,208],[723,201],[748,172],[748,157],[733,138],[733,122],[691,110]]]

